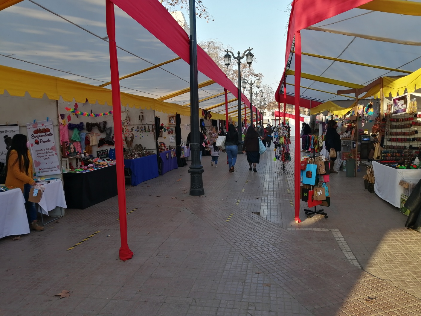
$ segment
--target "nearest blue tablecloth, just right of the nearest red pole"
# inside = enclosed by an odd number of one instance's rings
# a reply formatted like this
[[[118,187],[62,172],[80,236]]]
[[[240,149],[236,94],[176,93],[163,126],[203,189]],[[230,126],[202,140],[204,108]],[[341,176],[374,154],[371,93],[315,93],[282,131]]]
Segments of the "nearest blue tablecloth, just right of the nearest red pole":
[[[157,155],[125,159],[124,166],[131,169],[131,185],[158,177]]]

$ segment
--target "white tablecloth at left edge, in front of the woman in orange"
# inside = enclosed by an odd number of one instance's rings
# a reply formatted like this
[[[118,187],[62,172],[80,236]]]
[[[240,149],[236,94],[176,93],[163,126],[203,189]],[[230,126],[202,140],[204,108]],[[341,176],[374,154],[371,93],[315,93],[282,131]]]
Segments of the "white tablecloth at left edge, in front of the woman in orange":
[[[29,224],[21,189],[0,192],[0,238],[23,234],[29,234]]]

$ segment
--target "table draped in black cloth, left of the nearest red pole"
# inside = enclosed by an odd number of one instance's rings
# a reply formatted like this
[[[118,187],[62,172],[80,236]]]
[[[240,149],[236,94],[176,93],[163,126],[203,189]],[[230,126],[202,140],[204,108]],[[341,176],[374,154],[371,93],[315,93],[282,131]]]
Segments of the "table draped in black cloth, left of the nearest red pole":
[[[117,195],[116,166],[89,172],[64,173],[67,208],[86,209]]]

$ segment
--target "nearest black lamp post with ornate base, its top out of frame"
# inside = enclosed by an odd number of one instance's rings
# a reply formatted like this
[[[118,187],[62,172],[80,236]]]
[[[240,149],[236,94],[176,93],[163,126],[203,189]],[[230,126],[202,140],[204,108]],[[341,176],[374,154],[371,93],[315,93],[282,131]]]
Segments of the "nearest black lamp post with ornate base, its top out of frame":
[[[200,161],[200,131],[199,131],[199,89],[197,79],[197,41],[196,41],[196,3],[189,1],[190,6],[190,149],[192,163],[190,164],[190,195],[203,195],[203,166]]]

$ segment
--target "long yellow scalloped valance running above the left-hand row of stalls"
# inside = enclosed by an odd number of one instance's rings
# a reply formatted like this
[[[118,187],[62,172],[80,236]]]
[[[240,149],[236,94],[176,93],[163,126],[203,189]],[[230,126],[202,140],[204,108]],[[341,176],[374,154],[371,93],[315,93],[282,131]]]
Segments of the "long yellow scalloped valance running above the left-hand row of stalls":
[[[0,94],[4,94],[5,90],[12,96],[24,96],[25,92],[28,92],[30,96],[38,99],[46,94],[51,100],[59,100],[61,96],[67,102],[72,102],[74,98],[76,102],[83,103],[88,99],[90,103],[98,101],[99,104],[112,105],[110,89],[0,65]],[[121,92],[120,96],[123,106],[190,116],[190,108],[179,104],[125,92]],[[201,115],[202,111],[199,111]],[[212,113],[212,117],[225,120],[224,115],[216,113]]]

